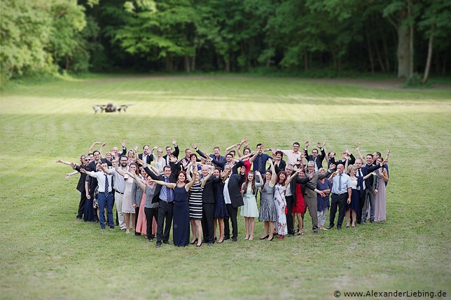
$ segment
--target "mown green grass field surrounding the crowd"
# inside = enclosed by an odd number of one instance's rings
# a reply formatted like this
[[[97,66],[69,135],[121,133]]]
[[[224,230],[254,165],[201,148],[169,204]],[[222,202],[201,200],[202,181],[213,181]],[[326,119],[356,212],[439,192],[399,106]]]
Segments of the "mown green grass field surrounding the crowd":
[[[451,88],[300,79],[99,76],[0,93],[0,299],[333,299],[335,291],[451,294]],[[93,104],[133,105],[97,114]],[[155,249],[76,221],[77,161],[120,146],[391,149],[387,221],[283,241]],[[256,235],[263,224],[256,224]],[[342,294],[343,296],[343,294]]]

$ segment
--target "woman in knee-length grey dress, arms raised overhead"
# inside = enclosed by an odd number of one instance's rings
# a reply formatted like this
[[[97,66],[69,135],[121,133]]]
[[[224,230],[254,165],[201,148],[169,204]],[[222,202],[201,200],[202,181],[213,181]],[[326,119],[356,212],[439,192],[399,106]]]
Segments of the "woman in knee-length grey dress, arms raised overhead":
[[[265,179],[263,179],[263,187],[261,188],[260,216],[258,217],[258,221],[265,222],[265,229],[260,240],[264,240],[265,238],[272,240],[274,222],[277,221],[277,210],[274,202],[274,186],[277,175],[272,159],[269,159],[269,161],[271,169],[266,171]]]

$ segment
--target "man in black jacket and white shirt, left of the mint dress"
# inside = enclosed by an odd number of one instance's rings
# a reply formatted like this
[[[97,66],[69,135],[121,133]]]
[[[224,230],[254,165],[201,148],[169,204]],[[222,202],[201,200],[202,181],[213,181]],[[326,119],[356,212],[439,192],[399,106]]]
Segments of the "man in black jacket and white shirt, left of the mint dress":
[[[244,205],[241,194],[241,186],[244,182],[244,168],[241,168],[241,174],[237,175],[232,174],[232,167],[230,165],[225,165],[224,179],[225,207],[227,207],[229,219],[232,222],[232,240],[236,242],[238,237],[238,207]],[[228,238],[230,238],[230,228],[228,221],[224,220],[224,240],[227,240]]]

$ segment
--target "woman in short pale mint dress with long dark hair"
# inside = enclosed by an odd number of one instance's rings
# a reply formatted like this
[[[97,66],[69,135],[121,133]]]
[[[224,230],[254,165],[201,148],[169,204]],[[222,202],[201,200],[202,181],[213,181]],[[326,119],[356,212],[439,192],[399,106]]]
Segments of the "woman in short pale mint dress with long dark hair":
[[[254,240],[255,218],[258,218],[258,207],[256,194],[257,189],[263,185],[263,178],[260,172],[256,171],[259,181],[256,182],[254,172],[247,173],[246,182],[241,186],[244,205],[241,207],[241,216],[244,217],[244,227],[246,228],[246,238],[244,240]]]

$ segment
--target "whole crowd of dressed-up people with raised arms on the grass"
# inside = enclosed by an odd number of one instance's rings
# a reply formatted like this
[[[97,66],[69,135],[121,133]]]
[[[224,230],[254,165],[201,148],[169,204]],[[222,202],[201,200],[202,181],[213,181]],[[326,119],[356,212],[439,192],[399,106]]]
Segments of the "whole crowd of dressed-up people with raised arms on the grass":
[[[344,221],[354,229],[385,220],[389,149],[385,158],[377,151],[363,157],[359,146],[358,158],[348,149],[339,157],[326,154],[326,142],[309,154],[308,141],[303,150],[294,142],[289,150],[257,144],[253,151],[242,139],[224,156],[218,146],[207,154],[191,144],[179,159],[175,139],[164,155],[158,146],[145,145],[141,154],[137,146],[127,151],[125,141],[122,153],[114,146],[103,155],[104,146],[92,144],[79,163],[57,160],[74,169],[66,178],[80,174],[77,219],[114,229],[116,205],[116,226],[156,239],[156,247],[237,241],[239,208],[245,240],[254,240],[256,219],[264,224],[260,240],[303,235],[307,210],[315,234],[341,230]]]

